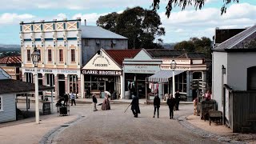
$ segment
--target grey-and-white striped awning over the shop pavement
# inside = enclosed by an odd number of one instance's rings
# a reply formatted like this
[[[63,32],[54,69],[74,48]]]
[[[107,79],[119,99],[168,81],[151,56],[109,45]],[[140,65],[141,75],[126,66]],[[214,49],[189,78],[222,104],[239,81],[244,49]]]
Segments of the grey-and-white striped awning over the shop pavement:
[[[184,70],[174,70],[174,75],[183,73]],[[160,70],[158,73],[151,75],[148,82],[168,82],[168,78],[173,76],[173,70]]]

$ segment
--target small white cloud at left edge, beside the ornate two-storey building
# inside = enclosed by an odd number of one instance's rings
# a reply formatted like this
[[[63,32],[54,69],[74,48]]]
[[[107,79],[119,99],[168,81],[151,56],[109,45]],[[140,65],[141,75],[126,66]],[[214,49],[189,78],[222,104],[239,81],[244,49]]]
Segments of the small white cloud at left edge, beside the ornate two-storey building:
[[[32,14],[4,13],[0,15],[0,25],[19,23],[21,21],[32,20],[32,18],[35,18]]]

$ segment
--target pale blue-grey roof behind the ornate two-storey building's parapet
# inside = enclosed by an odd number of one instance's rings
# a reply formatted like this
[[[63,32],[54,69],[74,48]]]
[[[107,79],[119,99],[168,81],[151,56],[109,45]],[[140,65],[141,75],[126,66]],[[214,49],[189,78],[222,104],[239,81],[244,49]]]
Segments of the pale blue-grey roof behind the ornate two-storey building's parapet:
[[[99,26],[81,26],[82,38],[99,38],[99,39],[128,39],[122,35],[115,34],[110,30],[105,30]]]

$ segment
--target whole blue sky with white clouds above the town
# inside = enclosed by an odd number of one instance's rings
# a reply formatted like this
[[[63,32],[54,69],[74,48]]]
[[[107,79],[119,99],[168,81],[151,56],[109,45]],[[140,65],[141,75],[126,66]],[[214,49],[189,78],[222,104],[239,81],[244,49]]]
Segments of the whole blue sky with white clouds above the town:
[[[63,18],[86,19],[87,26],[96,26],[99,16],[112,12],[122,13],[127,7],[142,6],[151,9],[153,0],[1,0],[0,6],[0,44],[20,44],[19,22],[52,21]],[[164,43],[181,42],[191,37],[214,36],[216,27],[221,29],[245,28],[256,24],[256,0],[239,0],[228,6],[226,14],[221,15],[222,0],[206,0],[202,10],[194,6],[186,10],[176,7],[165,15],[167,0],[161,0],[160,15],[166,35]]]

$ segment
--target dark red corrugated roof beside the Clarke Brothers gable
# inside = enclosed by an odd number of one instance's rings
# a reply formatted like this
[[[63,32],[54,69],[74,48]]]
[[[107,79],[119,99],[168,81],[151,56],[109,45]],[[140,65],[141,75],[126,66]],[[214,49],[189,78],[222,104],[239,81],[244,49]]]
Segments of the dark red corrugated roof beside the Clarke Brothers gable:
[[[134,58],[140,50],[105,50],[118,65],[122,66],[124,58]]]

